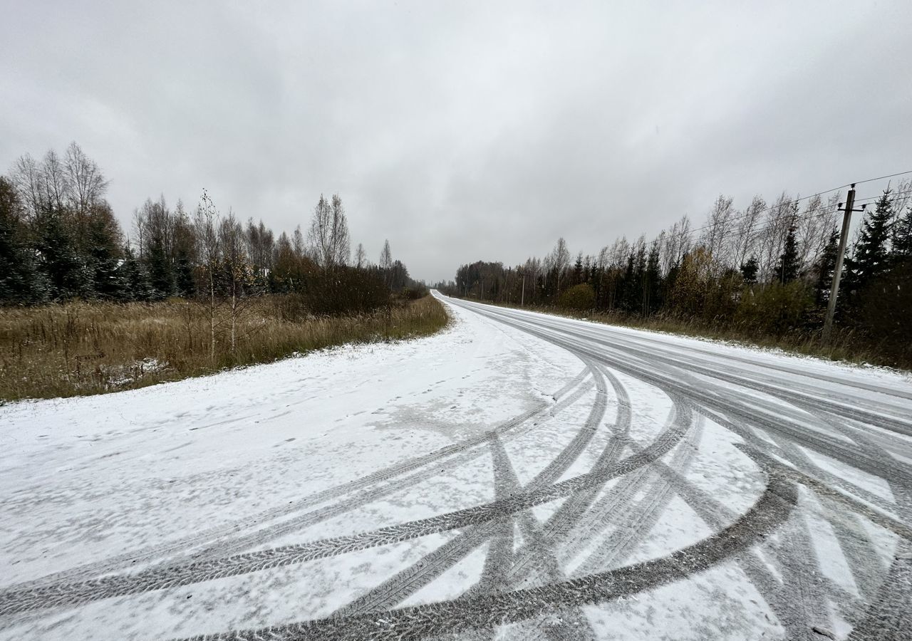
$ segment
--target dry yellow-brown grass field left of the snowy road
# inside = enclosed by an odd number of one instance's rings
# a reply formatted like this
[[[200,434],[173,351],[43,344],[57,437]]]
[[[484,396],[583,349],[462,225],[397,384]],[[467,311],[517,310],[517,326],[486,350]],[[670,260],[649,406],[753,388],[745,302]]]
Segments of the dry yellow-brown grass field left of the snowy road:
[[[430,296],[371,315],[298,317],[298,310],[289,296],[255,299],[238,318],[233,352],[228,311],[219,310],[213,358],[208,309],[181,299],[0,308],[0,399],[140,388],[353,341],[424,336],[447,323]]]

